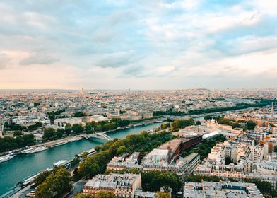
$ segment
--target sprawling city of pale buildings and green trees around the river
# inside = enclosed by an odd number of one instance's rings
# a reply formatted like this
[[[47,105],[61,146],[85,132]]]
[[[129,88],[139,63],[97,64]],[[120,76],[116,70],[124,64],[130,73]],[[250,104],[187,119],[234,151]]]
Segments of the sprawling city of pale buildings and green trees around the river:
[[[102,139],[14,180],[1,197],[277,196],[275,89],[81,88],[0,97],[0,165]]]

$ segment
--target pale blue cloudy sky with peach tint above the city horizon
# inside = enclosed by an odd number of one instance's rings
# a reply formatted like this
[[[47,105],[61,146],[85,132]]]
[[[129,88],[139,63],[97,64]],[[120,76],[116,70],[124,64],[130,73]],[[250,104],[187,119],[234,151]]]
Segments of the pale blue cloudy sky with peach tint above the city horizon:
[[[277,88],[276,0],[1,0],[0,88]]]

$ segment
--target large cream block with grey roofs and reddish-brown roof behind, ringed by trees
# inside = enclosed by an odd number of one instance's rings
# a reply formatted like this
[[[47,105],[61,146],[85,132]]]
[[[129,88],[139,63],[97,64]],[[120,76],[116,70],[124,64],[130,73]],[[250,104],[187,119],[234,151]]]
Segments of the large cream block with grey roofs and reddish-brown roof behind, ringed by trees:
[[[171,173],[179,175],[184,181],[186,175],[191,174],[200,163],[200,157],[197,153],[182,158],[178,155],[181,149],[182,141],[172,139],[162,144],[158,148],[153,149],[139,163],[140,153],[132,153],[131,156],[126,154],[114,157],[108,163],[107,170],[122,170],[136,168],[143,171],[167,170]]]

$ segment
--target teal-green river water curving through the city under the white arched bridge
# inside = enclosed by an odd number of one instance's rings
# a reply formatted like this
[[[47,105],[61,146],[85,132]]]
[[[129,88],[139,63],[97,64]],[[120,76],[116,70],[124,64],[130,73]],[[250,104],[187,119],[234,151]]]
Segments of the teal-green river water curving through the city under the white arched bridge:
[[[146,126],[133,127],[129,129],[122,129],[117,132],[109,133],[112,138],[122,139],[129,134],[139,134],[143,131],[159,127],[161,123],[149,124]],[[52,168],[53,163],[60,160],[70,160],[73,157],[94,148],[97,145],[103,144],[105,140],[102,139],[81,139],[73,141],[68,144],[49,148],[39,153],[20,154],[10,161],[0,163],[0,195],[11,190],[16,183],[24,180],[30,175]]]

